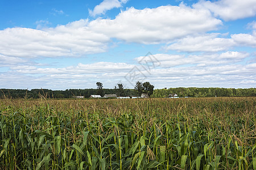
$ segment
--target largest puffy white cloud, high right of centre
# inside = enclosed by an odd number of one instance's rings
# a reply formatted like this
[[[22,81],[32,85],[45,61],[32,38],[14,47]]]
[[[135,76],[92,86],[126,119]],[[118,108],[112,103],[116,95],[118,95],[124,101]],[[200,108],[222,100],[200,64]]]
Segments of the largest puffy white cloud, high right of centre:
[[[88,26],[96,32],[127,42],[158,44],[211,31],[221,24],[221,20],[213,18],[208,10],[196,10],[181,4],[143,10],[131,7],[115,19],[96,19]]]

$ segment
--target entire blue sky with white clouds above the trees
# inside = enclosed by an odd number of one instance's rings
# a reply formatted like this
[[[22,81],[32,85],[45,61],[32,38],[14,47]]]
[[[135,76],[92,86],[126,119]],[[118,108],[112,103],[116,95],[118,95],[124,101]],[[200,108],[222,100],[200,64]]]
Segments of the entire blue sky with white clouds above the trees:
[[[256,87],[255,0],[1,0],[0,88]]]

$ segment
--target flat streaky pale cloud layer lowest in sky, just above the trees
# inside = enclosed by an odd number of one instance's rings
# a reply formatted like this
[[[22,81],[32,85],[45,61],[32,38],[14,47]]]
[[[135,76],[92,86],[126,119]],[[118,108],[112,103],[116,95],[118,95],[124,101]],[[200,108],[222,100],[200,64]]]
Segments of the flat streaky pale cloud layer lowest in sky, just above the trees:
[[[225,52],[211,55],[172,55],[154,54],[161,65],[150,72],[143,70],[138,63],[97,62],[92,64],[79,63],[76,66],[49,68],[39,66],[13,66],[11,74],[0,74],[2,87],[8,88],[84,88],[94,87],[100,80],[104,87],[113,88],[115,83],[122,82],[133,88],[125,76],[135,66],[146,76],[156,88],[166,87],[254,87],[255,63],[241,65],[241,61],[250,54],[241,52]],[[141,61],[144,57],[135,58]],[[20,78],[19,76],[20,75]],[[142,76],[141,75],[141,76]],[[9,83],[7,83],[9,82]],[[10,84],[10,82],[12,82]],[[30,82],[30,83],[27,83]],[[54,85],[52,85],[54,84]],[[83,84],[83,85],[81,85]]]

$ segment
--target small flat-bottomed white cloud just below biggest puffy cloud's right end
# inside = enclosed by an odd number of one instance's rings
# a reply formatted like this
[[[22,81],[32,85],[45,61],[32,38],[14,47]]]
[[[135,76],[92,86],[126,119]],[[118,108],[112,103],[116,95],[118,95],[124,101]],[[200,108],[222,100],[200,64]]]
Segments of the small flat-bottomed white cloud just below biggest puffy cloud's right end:
[[[166,46],[166,50],[179,52],[220,52],[232,48],[236,43],[232,39],[218,37],[219,33],[187,36]]]

